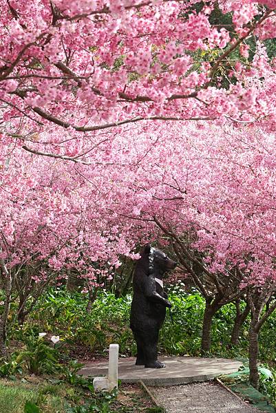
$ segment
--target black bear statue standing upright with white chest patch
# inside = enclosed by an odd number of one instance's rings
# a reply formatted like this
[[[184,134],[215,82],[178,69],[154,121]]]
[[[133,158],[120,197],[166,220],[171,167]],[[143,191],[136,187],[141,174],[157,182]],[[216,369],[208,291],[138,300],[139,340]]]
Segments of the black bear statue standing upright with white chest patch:
[[[165,367],[157,359],[159,330],[166,317],[166,308],[171,308],[163,290],[163,277],[175,266],[176,262],[149,244],[136,264],[130,313],[130,328],[137,344],[136,366]]]

